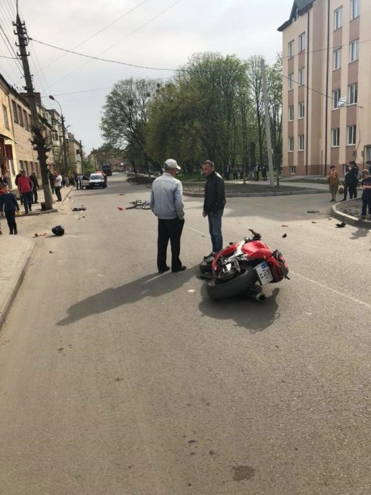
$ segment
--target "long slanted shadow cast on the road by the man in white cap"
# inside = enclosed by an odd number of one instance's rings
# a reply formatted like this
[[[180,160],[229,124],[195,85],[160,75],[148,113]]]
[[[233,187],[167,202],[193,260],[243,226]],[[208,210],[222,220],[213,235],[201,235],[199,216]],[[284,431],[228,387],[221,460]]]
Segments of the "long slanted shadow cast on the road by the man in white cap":
[[[71,325],[91,314],[100,314],[115,307],[120,307],[128,303],[135,303],[146,297],[158,297],[169,292],[173,292],[190,278],[194,277],[198,267],[192,267],[184,272],[172,274],[167,272],[164,275],[157,273],[146,275],[136,281],[121,285],[120,287],[110,287],[104,289],[94,296],[81,300],[79,303],[67,309],[66,318],[60,320],[57,325]]]

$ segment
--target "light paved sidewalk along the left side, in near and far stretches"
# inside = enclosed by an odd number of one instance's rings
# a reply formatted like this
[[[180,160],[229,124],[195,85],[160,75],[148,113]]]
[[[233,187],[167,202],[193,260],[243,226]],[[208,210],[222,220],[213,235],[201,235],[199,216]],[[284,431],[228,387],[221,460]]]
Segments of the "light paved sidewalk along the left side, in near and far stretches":
[[[24,208],[20,205],[23,219],[30,219],[37,214],[56,213],[58,208],[63,205],[65,199],[69,196],[72,188],[65,187],[60,190],[62,201],[54,203],[53,210],[41,211],[41,205],[35,211],[24,215]],[[39,201],[44,201],[44,194],[41,190],[38,197]],[[27,268],[30,266],[32,254],[36,248],[35,239],[30,239],[22,235],[9,235],[8,224],[5,217],[0,217],[1,231],[0,246],[1,246],[1,265],[0,265],[0,331],[3,325],[6,325],[9,311],[12,303],[16,298],[16,294],[21,287],[21,283]]]

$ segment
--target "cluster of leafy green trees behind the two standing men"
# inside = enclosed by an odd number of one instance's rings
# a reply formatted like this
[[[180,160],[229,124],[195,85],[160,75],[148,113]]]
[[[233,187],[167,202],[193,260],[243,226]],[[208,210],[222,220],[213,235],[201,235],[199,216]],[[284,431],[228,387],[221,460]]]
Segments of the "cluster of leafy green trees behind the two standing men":
[[[280,61],[267,72],[275,154],[282,141]],[[220,171],[249,170],[249,143],[265,161],[265,114],[260,57],[194,54],[168,83],[119,81],[106,97],[101,122],[106,142],[125,150],[136,168],[173,157],[191,174],[204,159]]]

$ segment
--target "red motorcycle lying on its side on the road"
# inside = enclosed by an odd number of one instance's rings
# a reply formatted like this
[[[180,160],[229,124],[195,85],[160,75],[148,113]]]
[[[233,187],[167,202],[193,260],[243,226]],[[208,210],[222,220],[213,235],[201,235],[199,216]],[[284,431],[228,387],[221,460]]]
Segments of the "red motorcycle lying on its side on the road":
[[[289,268],[284,256],[262,243],[262,236],[258,232],[252,229],[249,231],[251,239],[229,243],[200,264],[200,271],[205,275],[210,274],[207,294],[212,299],[245,294],[256,300],[264,300],[263,285],[280,282],[283,278],[289,279]]]

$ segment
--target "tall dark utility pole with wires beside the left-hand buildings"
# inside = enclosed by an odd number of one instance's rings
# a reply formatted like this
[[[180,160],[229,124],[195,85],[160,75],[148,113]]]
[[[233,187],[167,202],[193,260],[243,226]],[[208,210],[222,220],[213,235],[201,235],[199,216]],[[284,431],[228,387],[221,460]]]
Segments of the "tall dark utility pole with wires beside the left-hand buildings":
[[[27,30],[25,28],[25,23],[21,22],[21,18],[17,12],[16,14],[16,23],[13,23],[16,27],[16,34],[18,36],[17,45],[19,47],[19,56],[21,57],[23,72],[25,76],[25,90],[27,91],[27,101],[30,105],[31,110],[31,122],[32,122],[32,144],[34,148],[36,148],[38,155],[38,162],[40,163],[41,168],[41,179],[43,182],[43,191],[44,191],[44,199],[45,199],[45,210],[51,210],[53,208],[53,197],[52,197],[52,189],[50,188],[49,176],[47,173],[47,134],[45,131],[45,127],[42,127],[38,120],[38,113],[36,107],[36,100],[34,94],[34,86],[32,85],[32,76],[30,72],[30,65],[28,64],[28,56],[27,53],[27,45],[28,45],[28,35]]]

